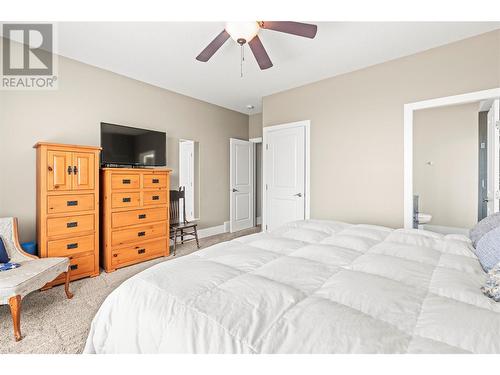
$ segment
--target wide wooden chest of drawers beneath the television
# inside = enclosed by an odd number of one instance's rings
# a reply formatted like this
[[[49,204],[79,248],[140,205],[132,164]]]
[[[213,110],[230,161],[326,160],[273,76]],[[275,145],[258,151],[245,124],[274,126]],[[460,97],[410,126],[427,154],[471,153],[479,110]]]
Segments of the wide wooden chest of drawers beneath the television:
[[[106,272],[169,255],[167,169],[101,169],[101,265]]]

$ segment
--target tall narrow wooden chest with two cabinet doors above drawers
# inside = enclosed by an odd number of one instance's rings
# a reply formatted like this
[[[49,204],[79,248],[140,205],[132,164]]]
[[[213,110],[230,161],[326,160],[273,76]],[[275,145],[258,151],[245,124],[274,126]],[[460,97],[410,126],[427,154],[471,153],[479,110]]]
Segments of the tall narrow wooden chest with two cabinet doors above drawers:
[[[99,147],[39,142],[40,257],[69,257],[71,280],[99,275]],[[63,283],[62,277],[47,284]]]

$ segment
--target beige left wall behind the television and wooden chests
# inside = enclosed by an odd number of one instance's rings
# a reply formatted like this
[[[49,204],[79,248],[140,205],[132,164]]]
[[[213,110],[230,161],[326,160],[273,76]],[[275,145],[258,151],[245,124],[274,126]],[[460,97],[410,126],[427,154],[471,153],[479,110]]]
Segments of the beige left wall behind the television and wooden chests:
[[[58,90],[0,91],[0,217],[20,219],[23,241],[35,236],[32,146],[99,145],[101,121],[166,131],[173,186],[179,138],[198,141],[200,227],[229,220],[229,138],[248,138],[247,115],[60,58]]]

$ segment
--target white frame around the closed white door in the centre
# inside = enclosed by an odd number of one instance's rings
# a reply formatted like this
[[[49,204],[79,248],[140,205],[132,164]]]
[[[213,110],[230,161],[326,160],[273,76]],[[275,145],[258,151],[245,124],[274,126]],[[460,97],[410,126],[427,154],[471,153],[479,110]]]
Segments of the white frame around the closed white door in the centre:
[[[283,130],[283,129],[291,129],[303,127],[305,130],[305,148],[304,148],[304,157],[305,157],[305,187],[304,187],[304,216],[305,219],[308,220],[311,218],[311,121],[310,120],[302,120],[296,122],[289,122],[284,124],[278,124],[273,126],[265,126],[262,132],[262,231],[267,232],[267,191],[266,191],[266,167],[267,167],[267,158],[266,158],[266,145],[267,139],[269,137],[269,133],[273,130]]]

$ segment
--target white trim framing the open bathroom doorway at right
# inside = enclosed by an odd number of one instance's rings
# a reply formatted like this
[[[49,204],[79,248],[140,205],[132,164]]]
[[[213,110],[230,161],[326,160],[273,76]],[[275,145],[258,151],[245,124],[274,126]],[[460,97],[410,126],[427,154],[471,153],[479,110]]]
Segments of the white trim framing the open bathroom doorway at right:
[[[403,107],[404,119],[404,226],[413,227],[413,112],[420,109],[473,103],[500,97],[500,88],[408,103]],[[266,128],[264,128],[265,130]]]

